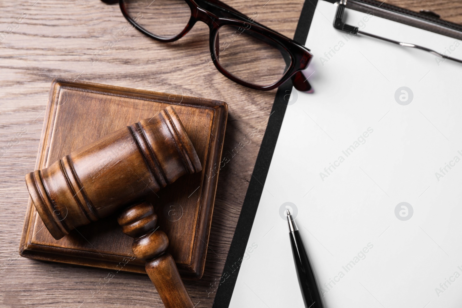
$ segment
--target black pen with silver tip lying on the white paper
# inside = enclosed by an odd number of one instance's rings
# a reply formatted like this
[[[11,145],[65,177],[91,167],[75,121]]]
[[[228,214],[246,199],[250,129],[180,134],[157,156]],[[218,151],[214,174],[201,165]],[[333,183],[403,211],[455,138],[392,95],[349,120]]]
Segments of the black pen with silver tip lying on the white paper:
[[[286,211],[287,222],[289,223],[289,236],[292,245],[293,259],[297,267],[298,282],[302,291],[305,306],[308,308],[322,308],[321,296],[316,285],[315,276],[308,260],[305,247],[300,237],[297,224],[292,219],[289,210]]]

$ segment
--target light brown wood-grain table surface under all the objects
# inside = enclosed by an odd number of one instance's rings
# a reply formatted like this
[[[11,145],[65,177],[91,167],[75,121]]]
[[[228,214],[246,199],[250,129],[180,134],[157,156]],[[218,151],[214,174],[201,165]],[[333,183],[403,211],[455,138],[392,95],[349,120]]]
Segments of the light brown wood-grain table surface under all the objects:
[[[225,2],[248,15],[257,12],[257,21],[293,37],[304,0]],[[387,3],[433,10],[445,20],[462,23],[461,2]],[[202,23],[168,44],[129,30],[104,50],[128,25],[117,5],[99,0],[17,0],[8,5],[3,1],[0,7],[0,31],[7,34],[0,33],[0,306],[163,307],[145,275],[119,272],[106,283],[108,270],[18,255],[29,198],[24,175],[34,169],[51,81],[62,77],[225,101],[229,117],[224,152],[258,130],[251,144],[220,171],[206,270],[200,281],[186,281],[196,307],[211,307],[215,294],[208,293],[210,284],[221,276],[276,92],[246,89],[207,65],[208,29]],[[96,54],[101,55],[98,61]],[[21,137],[15,139],[17,133]]]

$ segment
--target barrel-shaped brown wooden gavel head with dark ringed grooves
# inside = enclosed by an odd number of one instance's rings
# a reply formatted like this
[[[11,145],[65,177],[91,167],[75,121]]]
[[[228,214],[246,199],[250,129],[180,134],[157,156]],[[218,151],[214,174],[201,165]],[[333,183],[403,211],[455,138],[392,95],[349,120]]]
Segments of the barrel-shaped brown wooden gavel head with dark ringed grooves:
[[[175,109],[120,129],[26,175],[30,197],[55,239],[106,217],[201,163]]]

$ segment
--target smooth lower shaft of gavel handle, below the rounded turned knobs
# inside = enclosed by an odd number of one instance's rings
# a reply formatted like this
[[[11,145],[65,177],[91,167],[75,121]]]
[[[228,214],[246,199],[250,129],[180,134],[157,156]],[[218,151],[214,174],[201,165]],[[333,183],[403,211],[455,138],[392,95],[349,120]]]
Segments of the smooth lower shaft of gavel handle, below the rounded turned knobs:
[[[171,254],[147,261],[146,272],[166,308],[194,308]]]

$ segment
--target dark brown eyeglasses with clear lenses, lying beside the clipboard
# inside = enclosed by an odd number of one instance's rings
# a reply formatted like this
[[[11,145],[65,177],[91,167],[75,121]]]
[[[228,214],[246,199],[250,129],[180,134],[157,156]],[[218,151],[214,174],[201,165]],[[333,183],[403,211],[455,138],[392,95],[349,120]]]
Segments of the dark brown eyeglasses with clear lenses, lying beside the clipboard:
[[[219,0],[119,0],[119,5],[136,29],[161,42],[176,41],[204,22],[213,64],[240,85],[272,90],[292,78],[298,91],[311,90],[301,72],[312,58],[309,49]]]

